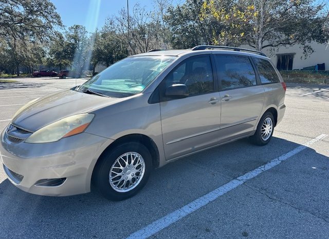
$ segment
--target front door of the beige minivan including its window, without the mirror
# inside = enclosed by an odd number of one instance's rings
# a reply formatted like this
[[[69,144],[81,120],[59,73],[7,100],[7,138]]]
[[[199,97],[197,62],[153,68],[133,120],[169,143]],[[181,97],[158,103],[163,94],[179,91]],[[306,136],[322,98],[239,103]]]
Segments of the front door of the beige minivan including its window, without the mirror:
[[[168,98],[165,89],[185,84],[189,96]],[[160,84],[160,110],[166,159],[218,142],[221,101],[209,55],[193,56],[176,66]]]

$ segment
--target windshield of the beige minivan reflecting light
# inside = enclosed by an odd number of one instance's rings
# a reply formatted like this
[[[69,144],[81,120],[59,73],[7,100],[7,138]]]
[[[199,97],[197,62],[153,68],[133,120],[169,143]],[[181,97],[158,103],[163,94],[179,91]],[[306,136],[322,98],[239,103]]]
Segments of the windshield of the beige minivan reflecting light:
[[[89,89],[112,97],[138,94],[174,59],[174,56],[128,57],[95,75],[78,90],[88,92]]]

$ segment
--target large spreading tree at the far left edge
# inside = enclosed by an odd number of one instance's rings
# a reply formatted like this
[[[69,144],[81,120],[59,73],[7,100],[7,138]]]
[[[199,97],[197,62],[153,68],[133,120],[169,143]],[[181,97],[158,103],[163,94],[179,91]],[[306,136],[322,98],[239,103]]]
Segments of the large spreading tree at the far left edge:
[[[29,54],[29,44],[43,44],[62,26],[56,8],[48,0],[0,0],[0,36],[7,42],[12,62],[19,67]]]

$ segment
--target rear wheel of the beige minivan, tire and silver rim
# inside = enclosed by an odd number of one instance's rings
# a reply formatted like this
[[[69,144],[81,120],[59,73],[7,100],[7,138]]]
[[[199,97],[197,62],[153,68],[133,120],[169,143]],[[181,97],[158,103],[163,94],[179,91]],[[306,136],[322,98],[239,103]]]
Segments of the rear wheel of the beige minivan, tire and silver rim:
[[[274,117],[271,112],[265,112],[258,123],[257,130],[251,141],[255,145],[264,146],[270,142],[274,131]]]

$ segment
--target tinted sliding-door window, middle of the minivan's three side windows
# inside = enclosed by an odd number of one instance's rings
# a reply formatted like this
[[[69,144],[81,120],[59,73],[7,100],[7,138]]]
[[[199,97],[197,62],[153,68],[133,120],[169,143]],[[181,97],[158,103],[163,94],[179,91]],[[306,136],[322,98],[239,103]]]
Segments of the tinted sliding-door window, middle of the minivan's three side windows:
[[[218,78],[222,89],[233,89],[257,85],[255,72],[245,56],[215,55]]]

